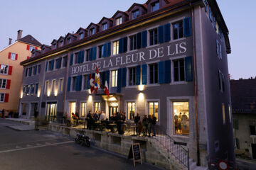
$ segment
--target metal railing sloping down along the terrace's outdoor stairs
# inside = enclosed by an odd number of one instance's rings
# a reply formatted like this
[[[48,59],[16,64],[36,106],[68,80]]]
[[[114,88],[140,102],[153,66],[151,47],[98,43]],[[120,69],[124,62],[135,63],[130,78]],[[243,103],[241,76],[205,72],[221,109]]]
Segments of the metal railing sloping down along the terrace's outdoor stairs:
[[[162,147],[167,149],[167,152],[171,154],[180,164],[189,169],[189,151],[181,145],[175,144],[175,140],[161,130],[160,126],[156,126],[156,139]]]

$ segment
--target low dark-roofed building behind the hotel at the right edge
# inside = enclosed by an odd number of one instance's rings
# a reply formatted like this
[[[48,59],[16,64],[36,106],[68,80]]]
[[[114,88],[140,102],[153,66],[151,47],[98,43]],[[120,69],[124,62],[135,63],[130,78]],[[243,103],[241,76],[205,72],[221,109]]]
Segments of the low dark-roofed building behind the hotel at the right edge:
[[[256,159],[256,79],[230,81],[235,152]]]

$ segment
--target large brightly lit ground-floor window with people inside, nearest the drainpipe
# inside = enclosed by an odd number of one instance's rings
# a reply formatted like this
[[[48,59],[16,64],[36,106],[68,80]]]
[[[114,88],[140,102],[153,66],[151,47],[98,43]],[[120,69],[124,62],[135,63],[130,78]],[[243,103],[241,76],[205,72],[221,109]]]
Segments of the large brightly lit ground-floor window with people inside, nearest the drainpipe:
[[[189,135],[188,102],[174,102],[174,134]]]

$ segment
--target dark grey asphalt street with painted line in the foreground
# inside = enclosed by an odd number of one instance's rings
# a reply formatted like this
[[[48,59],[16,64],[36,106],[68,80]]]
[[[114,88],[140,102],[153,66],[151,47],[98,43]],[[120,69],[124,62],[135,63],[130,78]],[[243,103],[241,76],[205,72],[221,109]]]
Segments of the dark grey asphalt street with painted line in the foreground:
[[[22,125],[0,118],[0,170],[159,169],[95,147],[81,147],[72,138],[50,131],[20,131]]]

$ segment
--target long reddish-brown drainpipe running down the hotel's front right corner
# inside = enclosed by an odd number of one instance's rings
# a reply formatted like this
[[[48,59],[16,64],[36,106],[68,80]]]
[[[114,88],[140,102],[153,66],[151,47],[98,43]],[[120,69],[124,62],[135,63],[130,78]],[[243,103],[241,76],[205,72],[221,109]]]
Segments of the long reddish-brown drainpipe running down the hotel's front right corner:
[[[190,2],[191,6],[191,2]],[[193,23],[193,75],[194,75],[194,86],[195,86],[195,108],[196,108],[196,154],[197,154],[197,166],[201,165],[200,161],[200,150],[199,150],[199,130],[198,130],[198,103],[197,103],[197,79],[196,79],[196,40],[195,40],[195,22],[194,22],[194,8],[192,7],[192,23]]]

